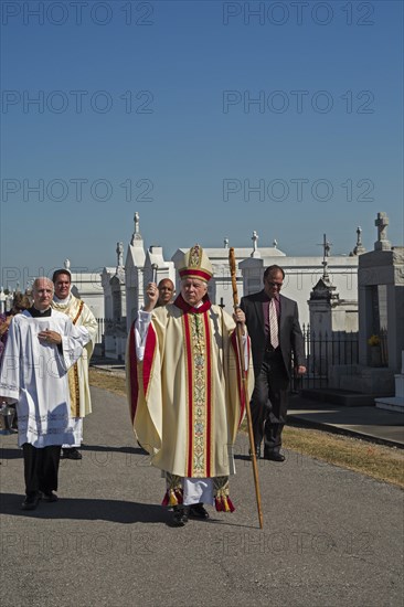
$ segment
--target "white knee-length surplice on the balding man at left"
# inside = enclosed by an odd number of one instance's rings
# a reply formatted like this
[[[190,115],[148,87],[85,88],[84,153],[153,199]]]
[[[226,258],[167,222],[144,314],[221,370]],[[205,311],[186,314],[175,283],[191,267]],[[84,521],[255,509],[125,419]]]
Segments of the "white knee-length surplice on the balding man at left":
[[[38,333],[56,331],[62,345],[40,341]],[[88,331],[74,327],[66,315],[52,310],[51,316],[33,318],[29,310],[17,315],[0,374],[0,395],[17,403],[19,445],[36,448],[74,445],[67,370],[88,342]]]

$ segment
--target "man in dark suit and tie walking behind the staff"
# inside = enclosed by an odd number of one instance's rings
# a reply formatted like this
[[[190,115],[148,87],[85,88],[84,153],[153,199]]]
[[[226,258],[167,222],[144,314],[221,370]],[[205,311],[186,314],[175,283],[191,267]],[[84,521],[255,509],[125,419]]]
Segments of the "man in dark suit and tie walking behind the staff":
[[[284,461],[281,432],[286,422],[291,353],[295,373],[306,373],[305,343],[297,303],[279,295],[285,271],[273,265],[264,273],[264,289],[243,297],[241,308],[252,340],[255,387],[251,408],[256,456]]]

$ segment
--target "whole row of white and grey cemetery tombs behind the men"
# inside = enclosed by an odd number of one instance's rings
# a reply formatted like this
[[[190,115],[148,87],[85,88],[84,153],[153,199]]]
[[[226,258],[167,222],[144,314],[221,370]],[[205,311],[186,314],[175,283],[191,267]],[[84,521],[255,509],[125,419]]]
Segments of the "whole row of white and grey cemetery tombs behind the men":
[[[283,294],[298,302],[300,323],[308,337],[307,353],[312,348],[309,341],[316,341],[318,336],[320,341],[325,337],[326,341],[355,340],[355,363],[352,355],[347,359],[340,354],[337,360],[326,355],[322,361],[323,355],[320,352],[318,359],[317,350],[317,360],[309,362],[307,376],[321,375],[321,369],[327,368],[330,387],[390,396],[394,394],[394,374],[398,373],[402,382],[404,372],[404,248],[387,241],[385,213],[378,213],[374,223],[378,227],[374,249],[365,252],[358,227],[355,246],[347,255],[331,255],[331,244],[323,235],[322,255],[293,257],[280,251],[276,242],[272,247],[258,246],[258,235],[254,232],[249,247],[234,247],[237,290],[240,298],[261,290],[265,268],[273,264],[281,266],[286,273]],[[214,270],[209,284],[210,298],[231,313],[228,239],[224,238],[222,247],[204,249]],[[135,213],[125,263],[123,243],[117,243],[116,265],[102,271],[75,271],[65,259],[64,267],[72,274],[72,292],[87,303],[98,320],[95,355],[124,362],[127,334],[143,305],[147,284],[156,273],[157,283],[170,278],[179,292],[176,263],[184,251],[178,248],[171,259],[166,259],[162,247],[147,248],[140,233],[139,213]],[[1,312],[11,308],[12,296],[0,289]],[[382,338],[376,350],[370,347],[371,336]],[[338,349],[339,345],[337,343]],[[328,344],[327,349],[332,354],[333,345]],[[374,354],[381,362],[372,361]],[[403,402],[403,396],[400,400]],[[404,408],[404,402],[401,406]]]

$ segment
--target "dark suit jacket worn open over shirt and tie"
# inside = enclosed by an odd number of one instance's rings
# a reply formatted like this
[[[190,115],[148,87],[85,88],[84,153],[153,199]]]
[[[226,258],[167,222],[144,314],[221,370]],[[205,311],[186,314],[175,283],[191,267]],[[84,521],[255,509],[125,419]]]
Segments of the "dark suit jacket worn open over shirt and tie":
[[[261,372],[267,340],[263,311],[264,301],[268,301],[264,289],[243,297],[241,301],[241,308],[245,313],[247,330],[252,341],[254,373],[256,377]],[[279,295],[279,345],[285,369],[290,379],[291,352],[294,352],[295,365],[306,365],[305,342],[296,301],[283,295]]]

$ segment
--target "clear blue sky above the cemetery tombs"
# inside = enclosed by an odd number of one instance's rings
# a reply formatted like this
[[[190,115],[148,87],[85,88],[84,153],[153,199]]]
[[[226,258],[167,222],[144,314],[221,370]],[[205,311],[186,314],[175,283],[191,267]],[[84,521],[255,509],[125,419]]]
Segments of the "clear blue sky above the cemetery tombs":
[[[167,256],[370,249],[379,211],[403,244],[402,2],[1,9],[4,287],[115,265],[135,211]]]

